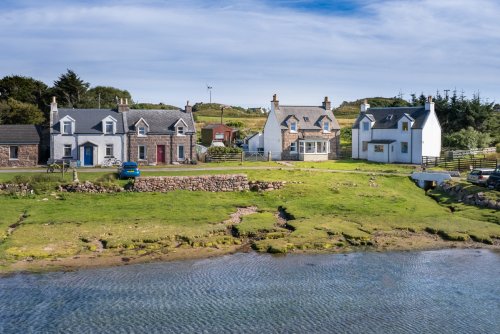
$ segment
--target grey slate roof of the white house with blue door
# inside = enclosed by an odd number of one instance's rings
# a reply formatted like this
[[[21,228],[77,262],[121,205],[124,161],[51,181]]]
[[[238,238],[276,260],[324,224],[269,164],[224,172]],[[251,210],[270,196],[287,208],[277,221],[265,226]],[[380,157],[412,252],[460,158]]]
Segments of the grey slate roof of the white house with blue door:
[[[60,133],[59,120],[69,116],[75,120],[75,134],[102,134],[102,120],[108,116],[116,119],[116,133],[125,133],[123,114],[112,109],[59,109],[57,119],[54,119],[54,133]]]

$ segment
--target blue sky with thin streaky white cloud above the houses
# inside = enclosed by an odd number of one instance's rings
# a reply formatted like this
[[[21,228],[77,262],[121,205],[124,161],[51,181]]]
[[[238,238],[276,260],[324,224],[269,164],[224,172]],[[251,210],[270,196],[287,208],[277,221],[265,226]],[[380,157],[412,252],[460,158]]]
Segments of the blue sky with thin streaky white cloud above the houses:
[[[67,69],[134,101],[500,101],[497,0],[0,0],[0,78]]]

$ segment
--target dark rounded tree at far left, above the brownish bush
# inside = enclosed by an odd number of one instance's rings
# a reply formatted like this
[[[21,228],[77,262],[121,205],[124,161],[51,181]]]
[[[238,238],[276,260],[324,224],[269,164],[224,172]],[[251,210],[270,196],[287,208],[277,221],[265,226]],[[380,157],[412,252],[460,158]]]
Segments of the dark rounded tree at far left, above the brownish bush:
[[[47,105],[45,83],[30,77],[11,75],[0,80],[0,99],[7,101],[13,98],[19,102],[34,104],[40,110]]]

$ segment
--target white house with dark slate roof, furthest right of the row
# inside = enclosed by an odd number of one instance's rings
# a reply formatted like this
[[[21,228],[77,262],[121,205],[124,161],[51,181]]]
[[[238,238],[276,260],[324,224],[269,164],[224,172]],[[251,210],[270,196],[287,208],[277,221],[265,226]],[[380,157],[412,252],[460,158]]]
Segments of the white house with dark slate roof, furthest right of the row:
[[[439,157],[441,126],[429,96],[425,106],[370,108],[365,102],[352,127],[352,157],[377,162],[422,163]]]

